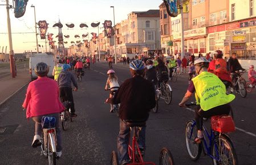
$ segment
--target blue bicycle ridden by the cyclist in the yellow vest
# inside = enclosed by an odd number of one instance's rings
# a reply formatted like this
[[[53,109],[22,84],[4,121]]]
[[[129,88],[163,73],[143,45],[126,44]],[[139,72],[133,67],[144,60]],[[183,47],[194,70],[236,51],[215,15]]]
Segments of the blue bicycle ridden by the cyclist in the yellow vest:
[[[185,104],[187,107],[196,106],[196,104]],[[213,117],[212,117],[213,118]],[[185,129],[186,147],[190,158],[194,161],[200,158],[201,152],[213,159],[213,164],[238,164],[237,154],[231,139],[225,134],[229,131],[216,131],[211,125],[210,132],[203,126],[204,140],[201,143],[195,143],[197,137],[196,121],[188,121]],[[226,126],[226,125],[225,125]],[[206,141],[207,138],[207,141]],[[206,152],[205,152],[206,151]]]

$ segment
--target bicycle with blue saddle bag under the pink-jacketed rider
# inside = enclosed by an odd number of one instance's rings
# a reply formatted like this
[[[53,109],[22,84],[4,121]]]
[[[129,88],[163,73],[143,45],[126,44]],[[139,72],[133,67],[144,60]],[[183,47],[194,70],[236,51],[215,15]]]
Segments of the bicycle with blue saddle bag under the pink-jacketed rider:
[[[42,118],[41,150],[49,164],[56,164],[56,130],[54,117]]]

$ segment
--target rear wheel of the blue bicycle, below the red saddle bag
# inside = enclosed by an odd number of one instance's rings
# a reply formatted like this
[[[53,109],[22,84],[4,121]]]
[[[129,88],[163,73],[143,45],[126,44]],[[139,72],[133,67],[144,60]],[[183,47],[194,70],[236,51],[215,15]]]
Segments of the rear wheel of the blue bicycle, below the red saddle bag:
[[[215,158],[213,164],[238,164],[237,154],[230,138],[225,134],[217,135],[211,146],[211,154]]]

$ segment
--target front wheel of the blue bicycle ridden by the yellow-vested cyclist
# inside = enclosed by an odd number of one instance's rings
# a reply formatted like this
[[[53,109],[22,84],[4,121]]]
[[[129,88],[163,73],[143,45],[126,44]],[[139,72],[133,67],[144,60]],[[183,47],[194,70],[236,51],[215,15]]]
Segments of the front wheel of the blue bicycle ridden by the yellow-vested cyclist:
[[[190,158],[194,161],[200,158],[202,152],[202,144],[197,144],[194,139],[197,137],[196,125],[194,122],[189,121],[186,123],[185,138],[186,138],[186,149],[188,149],[188,154]]]

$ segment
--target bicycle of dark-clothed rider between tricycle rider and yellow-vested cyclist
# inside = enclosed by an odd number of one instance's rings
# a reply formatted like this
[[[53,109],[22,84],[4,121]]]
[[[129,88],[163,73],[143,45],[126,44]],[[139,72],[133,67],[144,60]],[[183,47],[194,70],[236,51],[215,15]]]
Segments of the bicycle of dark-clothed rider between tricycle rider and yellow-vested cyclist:
[[[165,81],[160,83],[160,91],[157,92],[157,100],[160,99],[160,96],[164,96],[164,101],[166,104],[170,104],[172,102],[172,88]]]

